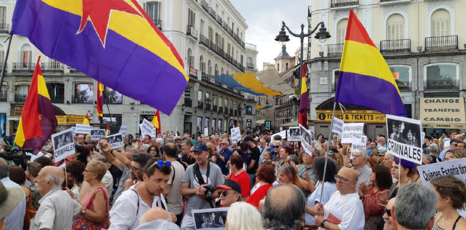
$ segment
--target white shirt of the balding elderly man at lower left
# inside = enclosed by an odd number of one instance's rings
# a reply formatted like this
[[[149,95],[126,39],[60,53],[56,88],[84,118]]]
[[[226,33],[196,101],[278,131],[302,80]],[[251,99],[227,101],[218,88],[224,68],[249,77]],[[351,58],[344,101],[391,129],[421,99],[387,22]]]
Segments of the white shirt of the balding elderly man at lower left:
[[[30,230],[68,230],[73,217],[81,211],[81,205],[63,190],[52,189],[39,201],[36,216],[31,219]]]

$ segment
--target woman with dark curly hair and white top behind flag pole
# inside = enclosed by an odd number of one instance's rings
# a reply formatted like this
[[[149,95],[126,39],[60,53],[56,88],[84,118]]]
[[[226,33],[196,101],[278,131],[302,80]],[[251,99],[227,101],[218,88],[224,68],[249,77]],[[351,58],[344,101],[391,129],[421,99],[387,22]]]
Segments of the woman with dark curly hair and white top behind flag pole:
[[[315,205],[319,203],[327,203],[332,194],[337,191],[337,184],[335,180],[335,175],[337,175],[338,168],[334,161],[327,161],[327,171],[325,173],[325,183],[324,183],[324,192],[322,196],[322,201],[320,201],[320,194],[322,194],[322,181],[324,180],[324,165],[325,157],[319,157],[314,160],[312,165],[313,173],[317,179],[317,184],[315,185],[314,192],[308,197],[308,203],[306,204],[305,210],[305,220],[306,225],[315,226],[314,216]],[[306,177],[309,177],[308,180],[311,180],[309,174],[306,173]]]

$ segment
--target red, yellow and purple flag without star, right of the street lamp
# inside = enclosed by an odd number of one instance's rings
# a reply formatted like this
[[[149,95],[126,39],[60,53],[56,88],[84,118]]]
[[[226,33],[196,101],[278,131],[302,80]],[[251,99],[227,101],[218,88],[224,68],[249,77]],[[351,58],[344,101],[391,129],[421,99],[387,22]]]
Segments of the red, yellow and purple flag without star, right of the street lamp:
[[[407,116],[387,62],[352,10],[341,55],[335,102]]]

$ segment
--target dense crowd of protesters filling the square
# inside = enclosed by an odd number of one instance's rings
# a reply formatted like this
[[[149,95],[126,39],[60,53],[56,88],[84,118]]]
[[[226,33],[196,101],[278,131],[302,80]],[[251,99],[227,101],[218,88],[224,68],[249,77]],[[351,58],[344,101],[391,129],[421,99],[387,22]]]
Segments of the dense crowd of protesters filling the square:
[[[466,229],[465,182],[422,185],[418,165],[388,154],[384,135],[352,150],[319,134],[311,153],[270,132],[230,140],[167,131],[112,148],[77,134],[62,161],[50,141],[27,167],[0,158],[0,230]],[[423,164],[466,158],[464,140],[425,136]],[[229,209],[194,218],[218,207]]]

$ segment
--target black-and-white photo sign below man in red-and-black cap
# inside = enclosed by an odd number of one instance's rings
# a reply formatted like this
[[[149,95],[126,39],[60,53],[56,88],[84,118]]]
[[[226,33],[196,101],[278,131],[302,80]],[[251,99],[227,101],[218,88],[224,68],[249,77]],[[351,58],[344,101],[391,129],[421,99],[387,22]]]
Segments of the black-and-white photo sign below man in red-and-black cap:
[[[196,230],[224,230],[228,207],[192,210]]]

